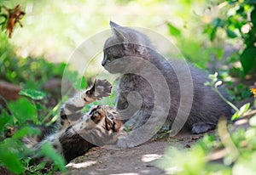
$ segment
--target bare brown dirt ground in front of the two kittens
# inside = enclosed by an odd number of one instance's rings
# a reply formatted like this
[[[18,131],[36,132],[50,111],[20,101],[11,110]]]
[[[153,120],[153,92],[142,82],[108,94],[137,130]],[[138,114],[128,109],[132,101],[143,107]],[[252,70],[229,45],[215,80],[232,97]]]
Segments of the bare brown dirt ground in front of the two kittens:
[[[166,148],[172,145],[186,149],[201,137],[202,135],[183,133],[176,138],[151,140],[131,149],[110,150],[108,148],[93,148],[85,155],[67,164],[67,174],[166,174],[166,172],[156,166],[156,161],[161,158]]]

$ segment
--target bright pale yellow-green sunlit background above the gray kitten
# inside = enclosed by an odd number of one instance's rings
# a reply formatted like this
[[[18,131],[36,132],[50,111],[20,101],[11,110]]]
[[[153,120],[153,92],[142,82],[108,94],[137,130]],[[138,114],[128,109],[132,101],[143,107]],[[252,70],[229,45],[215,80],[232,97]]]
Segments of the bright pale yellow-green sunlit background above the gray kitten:
[[[213,43],[207,43],[203,25],[210,23],[218,14],[218,7],[210,7],[211,3],[204,0],[55,0],[6,3],[20,3],[26,12],[22,20],[24,26],[17,27],[10,40],[17,47],[16,53],[23,58],[43,55],[45,59],[54,62],[68,61],[82,42],[98,32],[108,30],[109,20],[113,20],[120,25],[145,27],[168,37],[177,43],[184,54],[193,58],[197,65],[205,68]],[[176,27],[177,33],[182,33],[182,36],[172,37],[167,23]],[[173,34],[177,36],[177,33]],[[221,43],[218,44],[221,47]],[[201,47],[205,50],[201,50]]]

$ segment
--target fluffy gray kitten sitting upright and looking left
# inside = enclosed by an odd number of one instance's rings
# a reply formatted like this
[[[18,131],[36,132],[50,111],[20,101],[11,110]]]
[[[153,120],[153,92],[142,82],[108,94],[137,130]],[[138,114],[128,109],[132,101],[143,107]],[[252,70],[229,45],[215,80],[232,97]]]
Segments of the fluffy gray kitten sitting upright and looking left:
[[[180,129],[205,133],[216,127],[220,116],[231,116],[230,106],[204,86],[208,81],[204,72],[183,61],[167,61],[140,31],[112,21],[110,26],[102,66],[122,74],[116,107],[122,118],[130,119],[126,126],[136,121],[128,137],[119,139],[119,147],[143,144],[164,122],[174,133]]]

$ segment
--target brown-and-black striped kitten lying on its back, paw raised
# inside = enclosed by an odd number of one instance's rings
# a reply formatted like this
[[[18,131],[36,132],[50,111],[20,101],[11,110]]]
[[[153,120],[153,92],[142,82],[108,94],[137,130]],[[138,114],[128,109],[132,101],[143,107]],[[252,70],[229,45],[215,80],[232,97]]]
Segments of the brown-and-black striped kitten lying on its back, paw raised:
[[[82,112],[85,105],[108,97],[111,88],[107,80],[96,80],[91,88],[77,93],[62,104],[60,129],[41,142],[32,138],[24,138],[23,142],[36,152],[48,142],[67,162],[84,155],[94,146],[116,144],[119,133],[123,131],[122,118],[117,110],[108,105],[96,105],[87,113]]]

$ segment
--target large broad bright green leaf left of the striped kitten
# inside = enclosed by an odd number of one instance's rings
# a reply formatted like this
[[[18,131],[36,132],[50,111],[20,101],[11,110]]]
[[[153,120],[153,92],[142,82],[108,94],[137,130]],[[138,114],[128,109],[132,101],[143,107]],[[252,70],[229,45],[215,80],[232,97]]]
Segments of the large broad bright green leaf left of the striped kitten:
[[[26,98],[10,102],[9,110],[20,123],[24,123],[27,120],[33,120],[36,123],[38,121],[36,106]]]

